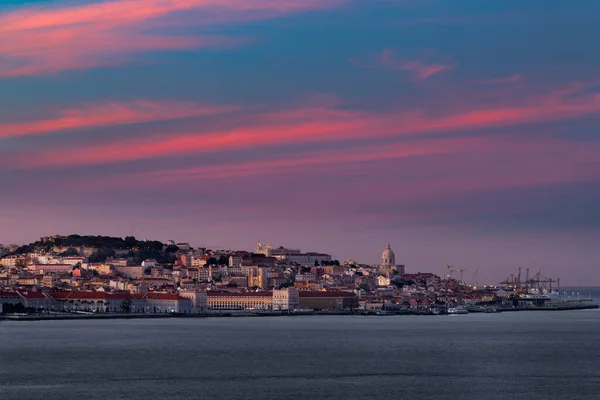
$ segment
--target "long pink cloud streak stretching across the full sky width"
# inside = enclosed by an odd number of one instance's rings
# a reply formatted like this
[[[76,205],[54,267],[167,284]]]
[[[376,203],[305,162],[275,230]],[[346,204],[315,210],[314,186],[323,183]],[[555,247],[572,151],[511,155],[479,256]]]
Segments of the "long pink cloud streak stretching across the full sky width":
[[[375,113],[329,108],[293,109],[253,115],[251,122],[230,129],[125,137],[93,146],[63,145],[60,151],[49,147],[36,153],[5,157],[3,161],[20,168],[100,165],[185,154],[465,132],[570,120],[598,113],[600,94],[582,92],[576,87],[520,99],[509,106],[463,105],[440,115],[420,110]]]

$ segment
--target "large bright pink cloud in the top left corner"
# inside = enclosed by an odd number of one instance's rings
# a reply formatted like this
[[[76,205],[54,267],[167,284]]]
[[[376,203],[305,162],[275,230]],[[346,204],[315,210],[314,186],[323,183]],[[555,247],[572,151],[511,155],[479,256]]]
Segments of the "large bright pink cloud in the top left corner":
[[[0,15],[0,77],[118,65],[132,53],[231,47],[252,38],[149,33],[180,11],[204,25],[323,9],[344,0],[113,0],[23,7]],[[183,20],[181,24],[183,24]],[[197,20],[188,25],[198,26]]]

